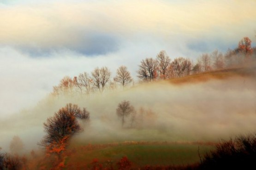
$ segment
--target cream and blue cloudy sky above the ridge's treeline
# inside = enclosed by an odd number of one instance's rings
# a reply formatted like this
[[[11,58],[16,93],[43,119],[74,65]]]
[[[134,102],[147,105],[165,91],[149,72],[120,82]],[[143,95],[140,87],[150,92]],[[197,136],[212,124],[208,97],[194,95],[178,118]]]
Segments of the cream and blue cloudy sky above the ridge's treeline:
[[[34,106],[66,75],[256,45],[255,0],[0,0],[0,118]]]

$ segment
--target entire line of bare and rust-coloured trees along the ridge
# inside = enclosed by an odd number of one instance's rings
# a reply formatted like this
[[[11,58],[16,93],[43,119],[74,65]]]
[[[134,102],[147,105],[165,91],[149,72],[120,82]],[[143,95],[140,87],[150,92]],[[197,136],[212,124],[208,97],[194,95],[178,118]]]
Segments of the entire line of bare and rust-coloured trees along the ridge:
[[[228,49],[225,54],[217,49],[212,53],[204,53],[194,63],[191,59],[179,57],[171,59],[162,50],[156,58],[143,59],[138,65],[137,77],[140,82],[153,82],[175,77],[188,76],[211,70],[221,70],[231,67],[243,66],[256,59],[256,47],[251,47],[251,40],[244,37],[235,49]],[[134,83],[130,71],[122,65],[112,73],[107,67],[95,68],[91,73],[83,72],[73,78],[65,76],[59,85],[53,87],[53,95],[102,93],[106,88],[115,89],[119,86],[125,88]]]

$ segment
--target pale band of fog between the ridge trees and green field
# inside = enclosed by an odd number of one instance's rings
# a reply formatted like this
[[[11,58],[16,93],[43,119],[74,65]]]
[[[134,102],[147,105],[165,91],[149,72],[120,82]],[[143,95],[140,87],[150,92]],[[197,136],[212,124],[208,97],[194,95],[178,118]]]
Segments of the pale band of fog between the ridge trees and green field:
[[[116,108],[129,100],[137,111],[137,126],[125,127]],[[8,151],[14,135],[18,135],[27,151],[37,148],[44,135],[43,123],[67,103],[86,107],[89,122],[80,122],[83,132],[73,141],[81,143],[122,141],[219,141],[255,132],[256,79],[234,76],[225,80],[171,84],[152,82],[136,84],[90,96],[48,96],[34,107],[20,111],[0,122],[0,144]],[[139,118],[143,108],[143,118]]]

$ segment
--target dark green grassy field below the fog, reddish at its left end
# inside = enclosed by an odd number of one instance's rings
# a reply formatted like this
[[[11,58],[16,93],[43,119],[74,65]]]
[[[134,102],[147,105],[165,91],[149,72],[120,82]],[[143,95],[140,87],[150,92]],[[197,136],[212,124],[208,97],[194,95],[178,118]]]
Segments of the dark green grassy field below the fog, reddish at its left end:
[[[86,146],[71,146],[65,160],[66,169],[89,168],[93,159],[98,159],[103,166],[113,167],[126,156],[134,168],[145,165],[187,165],[200,161],[198,155],[214,149],[213,145],[196,143],[113,143]]]

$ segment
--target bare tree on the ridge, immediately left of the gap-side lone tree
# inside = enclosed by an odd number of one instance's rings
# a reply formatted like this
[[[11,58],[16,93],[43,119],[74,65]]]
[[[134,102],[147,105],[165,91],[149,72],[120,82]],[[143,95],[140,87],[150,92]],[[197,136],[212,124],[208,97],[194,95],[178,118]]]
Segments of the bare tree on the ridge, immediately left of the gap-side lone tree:
[[[110,80],[110,70],[107,67],[102,67],[101,69],[97,67],[91,72],[91,75],[95,88],[98,88],[100,92],[103,92],[105,85]]]

